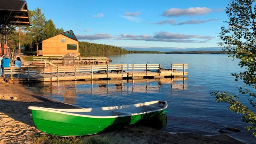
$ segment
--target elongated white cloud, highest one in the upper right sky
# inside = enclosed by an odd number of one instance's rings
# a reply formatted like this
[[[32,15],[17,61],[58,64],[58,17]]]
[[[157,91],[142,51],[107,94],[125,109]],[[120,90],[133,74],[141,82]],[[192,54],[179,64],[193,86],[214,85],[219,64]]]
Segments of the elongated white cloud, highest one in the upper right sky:
[[[209,9],[207,7],[195,7],[188,9],[167,9],[163,12],[162,16],[165,17],[178,17],[178,16],[195,16],[208,14],[209,12],[213,12],[214,10]]]

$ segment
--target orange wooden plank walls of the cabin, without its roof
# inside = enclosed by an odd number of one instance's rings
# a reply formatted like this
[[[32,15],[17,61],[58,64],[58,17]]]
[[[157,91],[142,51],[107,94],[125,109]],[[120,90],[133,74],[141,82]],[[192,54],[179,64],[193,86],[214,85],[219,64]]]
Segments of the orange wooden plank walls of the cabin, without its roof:
[[[61,38],[65,38],[65,42],[61,42]],[[68,50],[67,44],[76,44],[76,50]],[[76,55],[79,55],[78,41],[61,34],[43,40],[42,47],[43,56],[59,56],[68,53],[76,53]]]

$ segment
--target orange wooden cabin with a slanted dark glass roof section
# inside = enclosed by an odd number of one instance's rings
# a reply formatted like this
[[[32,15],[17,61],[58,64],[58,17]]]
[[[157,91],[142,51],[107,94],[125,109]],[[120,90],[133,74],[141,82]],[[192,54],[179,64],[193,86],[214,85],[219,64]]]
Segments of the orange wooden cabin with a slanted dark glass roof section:
[[[79,54],[78,40],[72,30],[36,43],[37,56],[61,56],[68,53]]]

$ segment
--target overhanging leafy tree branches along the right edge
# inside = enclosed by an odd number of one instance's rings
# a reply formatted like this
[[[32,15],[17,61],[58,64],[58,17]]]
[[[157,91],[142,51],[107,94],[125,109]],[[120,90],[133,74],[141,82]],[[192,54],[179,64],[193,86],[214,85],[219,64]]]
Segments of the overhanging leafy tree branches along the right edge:
[[[241,79],[251,89],[256,89],[256,3],[255,0],[231,0],[226,8],[228,20],[227,26],[223,26],[220,38],[223,42],[224,51],[229,56],[239,61],[239,66],[244,72],[233,73],[235,81]],[[234,53],[234,55],[231,54]],[[242,121],[249,123],[247,130],[253,130],[252,135],[256,136],[256,93],[249,89],[239,89],[241,96],[247,97],[246,102],[239,101],[239,95],[231,95],[225,92],[212,92],[216,101],[227,102],[228,109],[242,114]],[[251,110],[252,109],[252,110]],[[254,112],[253,112],[254,111]]]

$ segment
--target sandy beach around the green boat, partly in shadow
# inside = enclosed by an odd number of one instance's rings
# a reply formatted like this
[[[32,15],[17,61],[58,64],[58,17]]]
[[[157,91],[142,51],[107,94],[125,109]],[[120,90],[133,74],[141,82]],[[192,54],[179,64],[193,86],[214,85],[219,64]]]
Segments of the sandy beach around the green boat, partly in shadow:
[[[63,104],[44,98],[35,93],[29,92],[20,84],[0,84],[0,143],[36,143],[35,134],[43,134],[36,129],[30,117],[29,106],[51,107],[51,108],[76,108],[74,106]],[[171,134],[153,129],[151,127],[135,125],[122,129],[102,132],[96,135],[79,137],[87,138],[105,138],[109,143],[196,143],[196,144],[241,144],[228,135],[220,134],[214,136],[203,136],[191,133]]]

